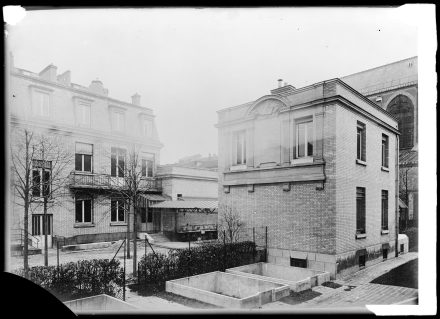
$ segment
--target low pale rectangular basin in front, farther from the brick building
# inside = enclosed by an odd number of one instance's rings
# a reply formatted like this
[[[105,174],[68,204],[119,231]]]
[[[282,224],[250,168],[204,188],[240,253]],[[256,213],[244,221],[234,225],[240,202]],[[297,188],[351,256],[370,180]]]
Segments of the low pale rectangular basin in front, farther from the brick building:
[[[166,291],[224,308],[255,308],[289,295],[289,286],[214,271],[166,282]]]

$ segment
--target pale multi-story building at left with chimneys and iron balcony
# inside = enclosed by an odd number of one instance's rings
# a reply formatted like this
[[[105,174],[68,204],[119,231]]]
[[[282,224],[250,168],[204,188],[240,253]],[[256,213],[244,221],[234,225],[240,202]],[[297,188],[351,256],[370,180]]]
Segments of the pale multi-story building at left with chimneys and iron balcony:
[[[120,196],[126,188],[124,174],[132,150],[142,166],[139,190],[145,200],[140,215],[147,214],[149,196],[157,200],[161,194],[155,175],[162,144],[153,110],[141,105],[138,94],[131,103],[111,98],[99,80],[88,87],[72,83],[70,71],[58,74],[52,64],[33,73],[11,62],[8,76],[11,146],[28,129],[56,137],[57,147],[71,154],[64,192],[58,195],[63,197],[62,205],[52,205],[47,212],[49,241],[53,235],[65,237],[66,244],[123,238],[127,227],[133,227],[133,217],[128,223],[127,202]],[[35,183],[39,180],[36,167],[32,174]],[[20,201],[12,187],[10,227],[23,231]],[[43,214],[37,204],[33,198],[28,231],[42,240]]]

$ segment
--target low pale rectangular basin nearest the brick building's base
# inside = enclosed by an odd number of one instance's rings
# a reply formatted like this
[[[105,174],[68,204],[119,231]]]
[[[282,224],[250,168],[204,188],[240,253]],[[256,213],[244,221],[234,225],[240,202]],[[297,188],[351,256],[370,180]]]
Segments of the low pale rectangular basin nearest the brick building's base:
[[[288,285],[290,290],[295,292],[310,289],[330,280],[329,272],[263,262],[229,268],[226,272]]]

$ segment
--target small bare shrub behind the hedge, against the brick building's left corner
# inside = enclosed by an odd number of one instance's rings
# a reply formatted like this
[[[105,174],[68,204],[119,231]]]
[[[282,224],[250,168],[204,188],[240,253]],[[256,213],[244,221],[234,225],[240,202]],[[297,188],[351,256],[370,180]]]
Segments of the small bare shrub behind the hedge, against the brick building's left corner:
[[[244,222],[232,207],[224,205],[219,215],[219,238],[228,243],[238,242]],[[223,235],[225,234],[225,235]],[[223,238],[225,236],[225,238]]]

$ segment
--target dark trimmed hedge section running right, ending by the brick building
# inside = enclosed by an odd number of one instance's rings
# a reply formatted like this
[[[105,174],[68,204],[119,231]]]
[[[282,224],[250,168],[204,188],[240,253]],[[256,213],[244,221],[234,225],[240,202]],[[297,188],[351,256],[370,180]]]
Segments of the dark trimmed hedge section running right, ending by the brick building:
[[[251,241],[240,243],[211,243],[191,249],[170,250],[167,255],[149,253],[138,264],[138,289],[164,288],[172,279],[224,271],[254,262],[265,261],[265,254]]]

